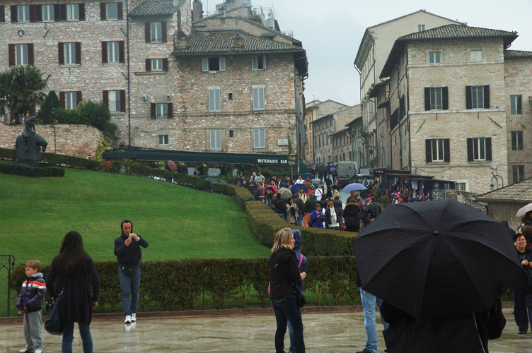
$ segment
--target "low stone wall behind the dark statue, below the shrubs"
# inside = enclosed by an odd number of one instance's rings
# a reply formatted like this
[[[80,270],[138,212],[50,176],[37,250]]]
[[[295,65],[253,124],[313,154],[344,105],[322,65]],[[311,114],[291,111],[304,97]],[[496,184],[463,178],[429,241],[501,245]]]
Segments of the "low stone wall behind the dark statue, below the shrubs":
[[[0,124],[0,147],[15,148],[15,141],[24,131],[24,124]],[[86,125],[35,125],[35,131],[47,140],[46,152],[95,157],[98,141],[103,133],[98,128]]]

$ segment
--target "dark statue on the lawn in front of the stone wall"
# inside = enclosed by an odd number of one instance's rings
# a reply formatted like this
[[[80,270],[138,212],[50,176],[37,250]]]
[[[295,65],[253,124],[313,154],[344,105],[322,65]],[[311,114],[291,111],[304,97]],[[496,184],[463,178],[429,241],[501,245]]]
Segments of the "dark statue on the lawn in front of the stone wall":
[[[35,116],[25,119],[24,132],[16,139],[18,162],[37,167],[40,162],[40,150],[46,152],[48,143],[42,136],[35,133]]]

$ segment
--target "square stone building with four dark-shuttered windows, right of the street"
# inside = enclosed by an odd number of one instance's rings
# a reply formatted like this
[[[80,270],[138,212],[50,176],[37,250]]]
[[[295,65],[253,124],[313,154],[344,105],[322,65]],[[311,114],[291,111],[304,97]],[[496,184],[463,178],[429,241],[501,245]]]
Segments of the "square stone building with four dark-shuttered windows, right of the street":
[[[515,32],[444,25],[399,37],[389,78],[391,169],[490,191],[508,175],[504,51]]]

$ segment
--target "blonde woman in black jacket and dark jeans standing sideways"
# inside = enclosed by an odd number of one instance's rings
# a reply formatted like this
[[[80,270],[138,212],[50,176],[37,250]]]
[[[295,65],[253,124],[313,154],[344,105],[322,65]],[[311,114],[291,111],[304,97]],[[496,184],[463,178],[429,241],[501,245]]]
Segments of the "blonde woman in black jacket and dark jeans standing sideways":
[[[296,253],[292,250],[295,242],[290,228],[279,230],[273,239],[272,256],[270,256],[270,301],[272,301],[277,321],[275,331],[275,352],[277,353],[284,352],[284,334],[287,332],[288,320],[294,328],[296,351],[305,353],[301,311],[291,284],[301,284],[306,273],[299,273]]]

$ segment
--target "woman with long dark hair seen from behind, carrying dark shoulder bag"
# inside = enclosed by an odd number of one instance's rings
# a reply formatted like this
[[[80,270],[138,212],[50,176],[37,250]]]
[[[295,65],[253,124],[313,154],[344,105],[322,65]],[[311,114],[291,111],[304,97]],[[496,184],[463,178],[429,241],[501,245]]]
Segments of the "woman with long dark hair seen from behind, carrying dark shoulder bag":
[[[56,277],[57,287],[54,287]],[[60,309],[64,324],[62,352],[72,352],[74,323],[78,323],[79,334],[83,341],[83,353],[92,353],[93,339],[90,325],[93,309],[98,305],[100,278],[93,259],[83,249],[83,239],[78,232],[68,232],[64,236],[59,255],[50,265],[46,277],[46,289],[52,298],[56,298],[64,289]]]

